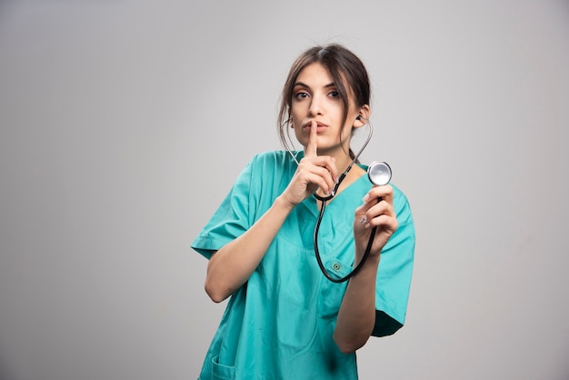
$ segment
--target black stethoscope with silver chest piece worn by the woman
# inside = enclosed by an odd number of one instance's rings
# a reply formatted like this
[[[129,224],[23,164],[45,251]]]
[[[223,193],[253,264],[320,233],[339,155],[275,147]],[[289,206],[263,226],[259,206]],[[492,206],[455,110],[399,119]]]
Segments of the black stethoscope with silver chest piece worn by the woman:
[[[363,118],[363,117],[358,116],[358,119],[361,119],[361,118]],[[343,283],[344,281],[349,280],[355,274],[357,274],[359,272],[359,270],[362,268],[362,266],[365,263],[365,260],[370,255],[370,252],[372,250],[372,245],[374,244],[375,231],[377,230],[377,227],[372,228],[372,231],[370,232],[370,236],[369,236],[369,241],[367,243],[367,246],[365,247],[364,256],[362,257],[362,260],[359,262],[359,264],[355,266],[355,268],[352,270],[352,272],[350,272],[347,275],[344,275],[344,277],[340,277],[340,278],[337,278],[337,277],[334,277],[333,275],[330,275],[330,273],[326,270],[326,268],[324,267],[324,264],[322,263],[322,258],[320,257],[320,251],[318,250],[318,231],[320,229],[320,223],[322,222],[322,218],[324,217],[324,210],[326,208],[326,202],[329,201],[330,199],[334,198],[334,195],[338,191],[338,187],[340,186],[340,184],[344,180],[345,175],[347,175],[348,172],[350,171],[350,169],[352,169],[352,166],[356,163],[358,157],[362,154],[362,152],[364,152],[365,146],[367,146],[370,139],[372,138],[372,134],[373,134],[372,124],[369,122],[369,120],[365,120],[365,121],[367,122],[366,124],[369,125],[369,134],[367,135],[367,138],[364,142],[364,145],[362,145],[362,147],[360,148],[357,155],[354,156],[352,163],[350,165],[348,165],[348,167],[344,170],[344,173],[342,175],[340,175],[340,177],[338,178],[338,182],[336,183],[336,185],[334,185],[334,190],[332,191],[331,195],[320,196],[320,195],[317,195],[316,193],[314,193],[314,197],[316,199],[318,199],[319,201],[321,201],[321,203],[322,203],[322,205],[320,207],[320,213],[318,214],[318,220],[316,221],[316,225],[314,227],[314,255],[316,255],[316,261],[318,262],[318,266],[320,266],[320,270],[322,271],[324,276],[328,280],[332,281],[333,283],[337,283],[337,284],[340,284],[340,283]],[[387,185],[389,183],[389,181],[391,180],[391,167],[383,161],[375,161],[374,163],[370,164],[367,167],[367,177],[370,180],[370,182],[374,185],[377,185],[377,186]]]

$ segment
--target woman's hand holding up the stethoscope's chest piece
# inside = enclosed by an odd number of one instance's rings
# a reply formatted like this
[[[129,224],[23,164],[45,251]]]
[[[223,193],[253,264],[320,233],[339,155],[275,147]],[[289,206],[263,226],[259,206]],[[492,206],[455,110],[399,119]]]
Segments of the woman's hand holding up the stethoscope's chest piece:
[[[374,186],[364,196],[364,205],[355,209],[354,240],[355,262],[364,255],[369,235],[377,227],[370,255],[379,255],[391,235],[397,230],[394,211],[394,190],[390,185]]]

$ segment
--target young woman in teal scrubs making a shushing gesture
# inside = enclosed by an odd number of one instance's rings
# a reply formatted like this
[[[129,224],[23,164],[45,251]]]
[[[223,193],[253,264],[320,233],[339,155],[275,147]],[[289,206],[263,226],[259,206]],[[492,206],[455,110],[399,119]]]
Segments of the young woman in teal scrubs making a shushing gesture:
[[[350,140],[370,115],[360,59],[342,45],[300,55],[279,114],[286,151],[255,155],[192,247],[209,259],[205,291],[231,296],[200,379],[356,379],[355,351],[403,324],[414,260],[414,223],[404,194],[372,185],[352,164]],[[291,151],[291,128],[301,151]],[[338,180],[340,185],[334,191]],[[314,257],[314,226],[326,204]]]

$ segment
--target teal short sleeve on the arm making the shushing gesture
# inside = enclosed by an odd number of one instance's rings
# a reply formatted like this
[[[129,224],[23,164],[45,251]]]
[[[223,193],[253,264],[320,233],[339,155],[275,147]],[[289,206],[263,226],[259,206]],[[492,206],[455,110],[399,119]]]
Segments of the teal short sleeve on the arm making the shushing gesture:
[[[221,205],[192,242],[191,247],[207,259],[253,224],[251,207],[255,207],[255,202],[251,199],[251,178],[254,166],[255,159],[245,166]]]

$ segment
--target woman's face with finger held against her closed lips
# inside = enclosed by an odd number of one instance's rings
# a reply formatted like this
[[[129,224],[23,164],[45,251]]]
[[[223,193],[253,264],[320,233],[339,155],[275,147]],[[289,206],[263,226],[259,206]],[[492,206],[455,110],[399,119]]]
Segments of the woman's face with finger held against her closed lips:
[[[349,110],[344,123],[344,103],[328,69],[319,63],[307,65],[296,78],[293,89],[291,115],[294,134],[299,143],[308,144],[310,126],[317,123],[318,154],[347,155],[350,136],[359,110],[349,99]],[[364,115],[365,116],[365,115]]]

